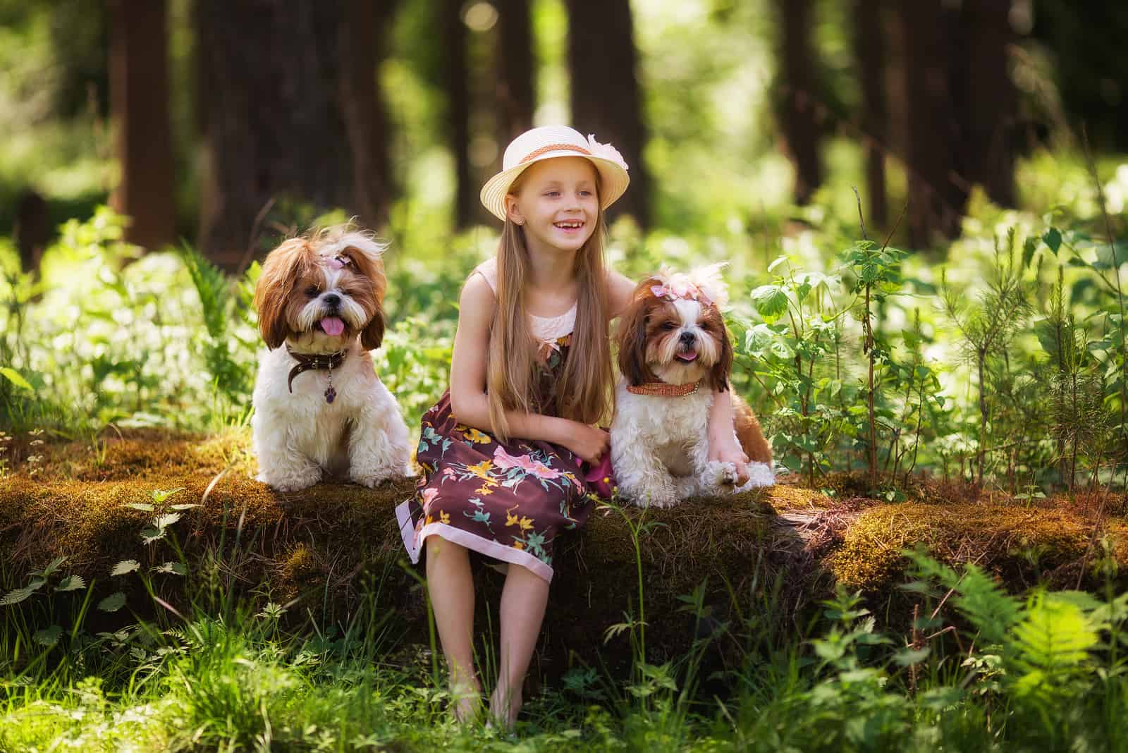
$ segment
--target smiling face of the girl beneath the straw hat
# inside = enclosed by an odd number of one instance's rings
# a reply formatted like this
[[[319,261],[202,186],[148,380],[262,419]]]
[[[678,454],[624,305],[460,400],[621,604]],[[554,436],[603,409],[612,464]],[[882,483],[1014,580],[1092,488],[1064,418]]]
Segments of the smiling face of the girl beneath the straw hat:
[[[513,222],[525,227],[530,251],[579,251],[599,220],[596,167],[582,157],[536,162],[505,197]]]

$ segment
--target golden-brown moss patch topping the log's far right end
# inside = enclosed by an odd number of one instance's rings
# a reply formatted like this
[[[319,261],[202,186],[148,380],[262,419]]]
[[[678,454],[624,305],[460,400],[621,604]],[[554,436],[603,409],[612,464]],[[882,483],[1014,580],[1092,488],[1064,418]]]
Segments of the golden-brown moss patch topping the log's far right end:
[[[878,505],[847,528],[827,566],[847,586],[879,591],[890,587],[904,572],[901,551],[923,546],[941,560],[975,561],[1012,587],[1022,587],[1054,579],[1066,569],[1076,576],[1093,534],[1093,521],[1068,510]]]

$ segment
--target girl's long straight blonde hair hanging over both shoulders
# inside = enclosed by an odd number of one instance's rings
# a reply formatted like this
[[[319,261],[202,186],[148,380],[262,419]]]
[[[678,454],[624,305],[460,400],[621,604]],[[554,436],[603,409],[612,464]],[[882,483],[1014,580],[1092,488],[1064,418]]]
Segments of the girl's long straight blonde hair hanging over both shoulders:
[[[510,188],[517,189],[520,178]],[[598,181],[597,181],[598,195]],[[583,424],[596,424],[610,415],[611,352],[607,334],[607,283],[603,268],[603,212],[596,231],[576,253],[575,328],[570,356],[553,392],[556,415]],[[525,282],[529,250],[525,231],[508,216],[497,243],[497,313],[490,329],[486,388],[490,426],[501,442],[509,440],[506,410],[540,413],[537,393],[543,364],[529,329],[525,308]]]

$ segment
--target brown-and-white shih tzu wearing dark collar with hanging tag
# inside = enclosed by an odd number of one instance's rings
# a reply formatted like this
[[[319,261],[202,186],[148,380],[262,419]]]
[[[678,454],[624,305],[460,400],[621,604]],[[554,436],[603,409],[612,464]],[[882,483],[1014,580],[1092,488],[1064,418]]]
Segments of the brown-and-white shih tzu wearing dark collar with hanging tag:
[[[280,491],[323,473],[372,487],[409,475],[407,426],[369,351],[384,339],[384,246],[331,228],[266,257],[255,289],[253,428],[258,480]]]

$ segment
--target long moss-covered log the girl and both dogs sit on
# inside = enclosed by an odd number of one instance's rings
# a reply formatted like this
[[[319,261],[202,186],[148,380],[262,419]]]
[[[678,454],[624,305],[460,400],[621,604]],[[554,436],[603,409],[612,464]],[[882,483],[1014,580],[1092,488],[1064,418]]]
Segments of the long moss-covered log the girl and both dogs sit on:
[[[92,446],[50,444],[34,466],[17,458],[17,471],[0,480],[0,575],[6,581],[0,587],[24,585],[24,574],[62,556],[63,572],[86,578],[97,599],[121,590],[136,614],[166,609],[153,604],[136,574],[109,575],[116,562],[134,559],[161,600],[182,614],[199,606],[190,599],[209,588],[233,588],[292,603],[292,615],[308,609],[318,620],[345,623],[359,609],[364,584],[379,581],[377,608],[395,612],[390,624],[425,643],[422,570],[406,564],[394,513],[412,494],[413,481],[377,489],[324,482],[280,494],[253,479],[247,445],[240,433],[134,433]],[[183,490],[164,503],[166,510],[200,506],[183,511],[165,539],[142,543],[141,531],[160,511],[127,505],[152,504],[153,489],[178,487]],[[1119,504],[1102,510],[1121,510]],[[637,559],[628,521],[653,524],[638,541]],[[1021,587],[1047,575],[1087,577],[1100,557],[1123,562],[1126,532],[1121,517],[1084,510],[832,504],[786,485],[694,499],[668,511],[598,510],[557,547],[539,668],[557,675],[576,662],[613,671],[627,666],[627,636],[613,637],[605,648],[605,634],[624,621],[624,613],[638,615],[640,568],[647,658],[662,662],[738,612],[748,617],[770,603],[772,619],[794,619],[803,604],[826,597],[835,579],[881,599],[904,578],[901,551],[913,546],[952,564],[978,561]],[[1112,543],[1102,549],[1100,535]],[[177,560],[177,552],[188,565],[186,578],[153,569]],[[478,627],[485,630],[502,577],[490,568],[477,568],[475,577],[482,594]],[[702,583],[707,583],[710,611],[704,626],[678,599]],[[131,619],[127,613],[91,612],[90,619],[106,622],[97,626],[104,629]],[[495,613],[492,623],[496,630]]]

